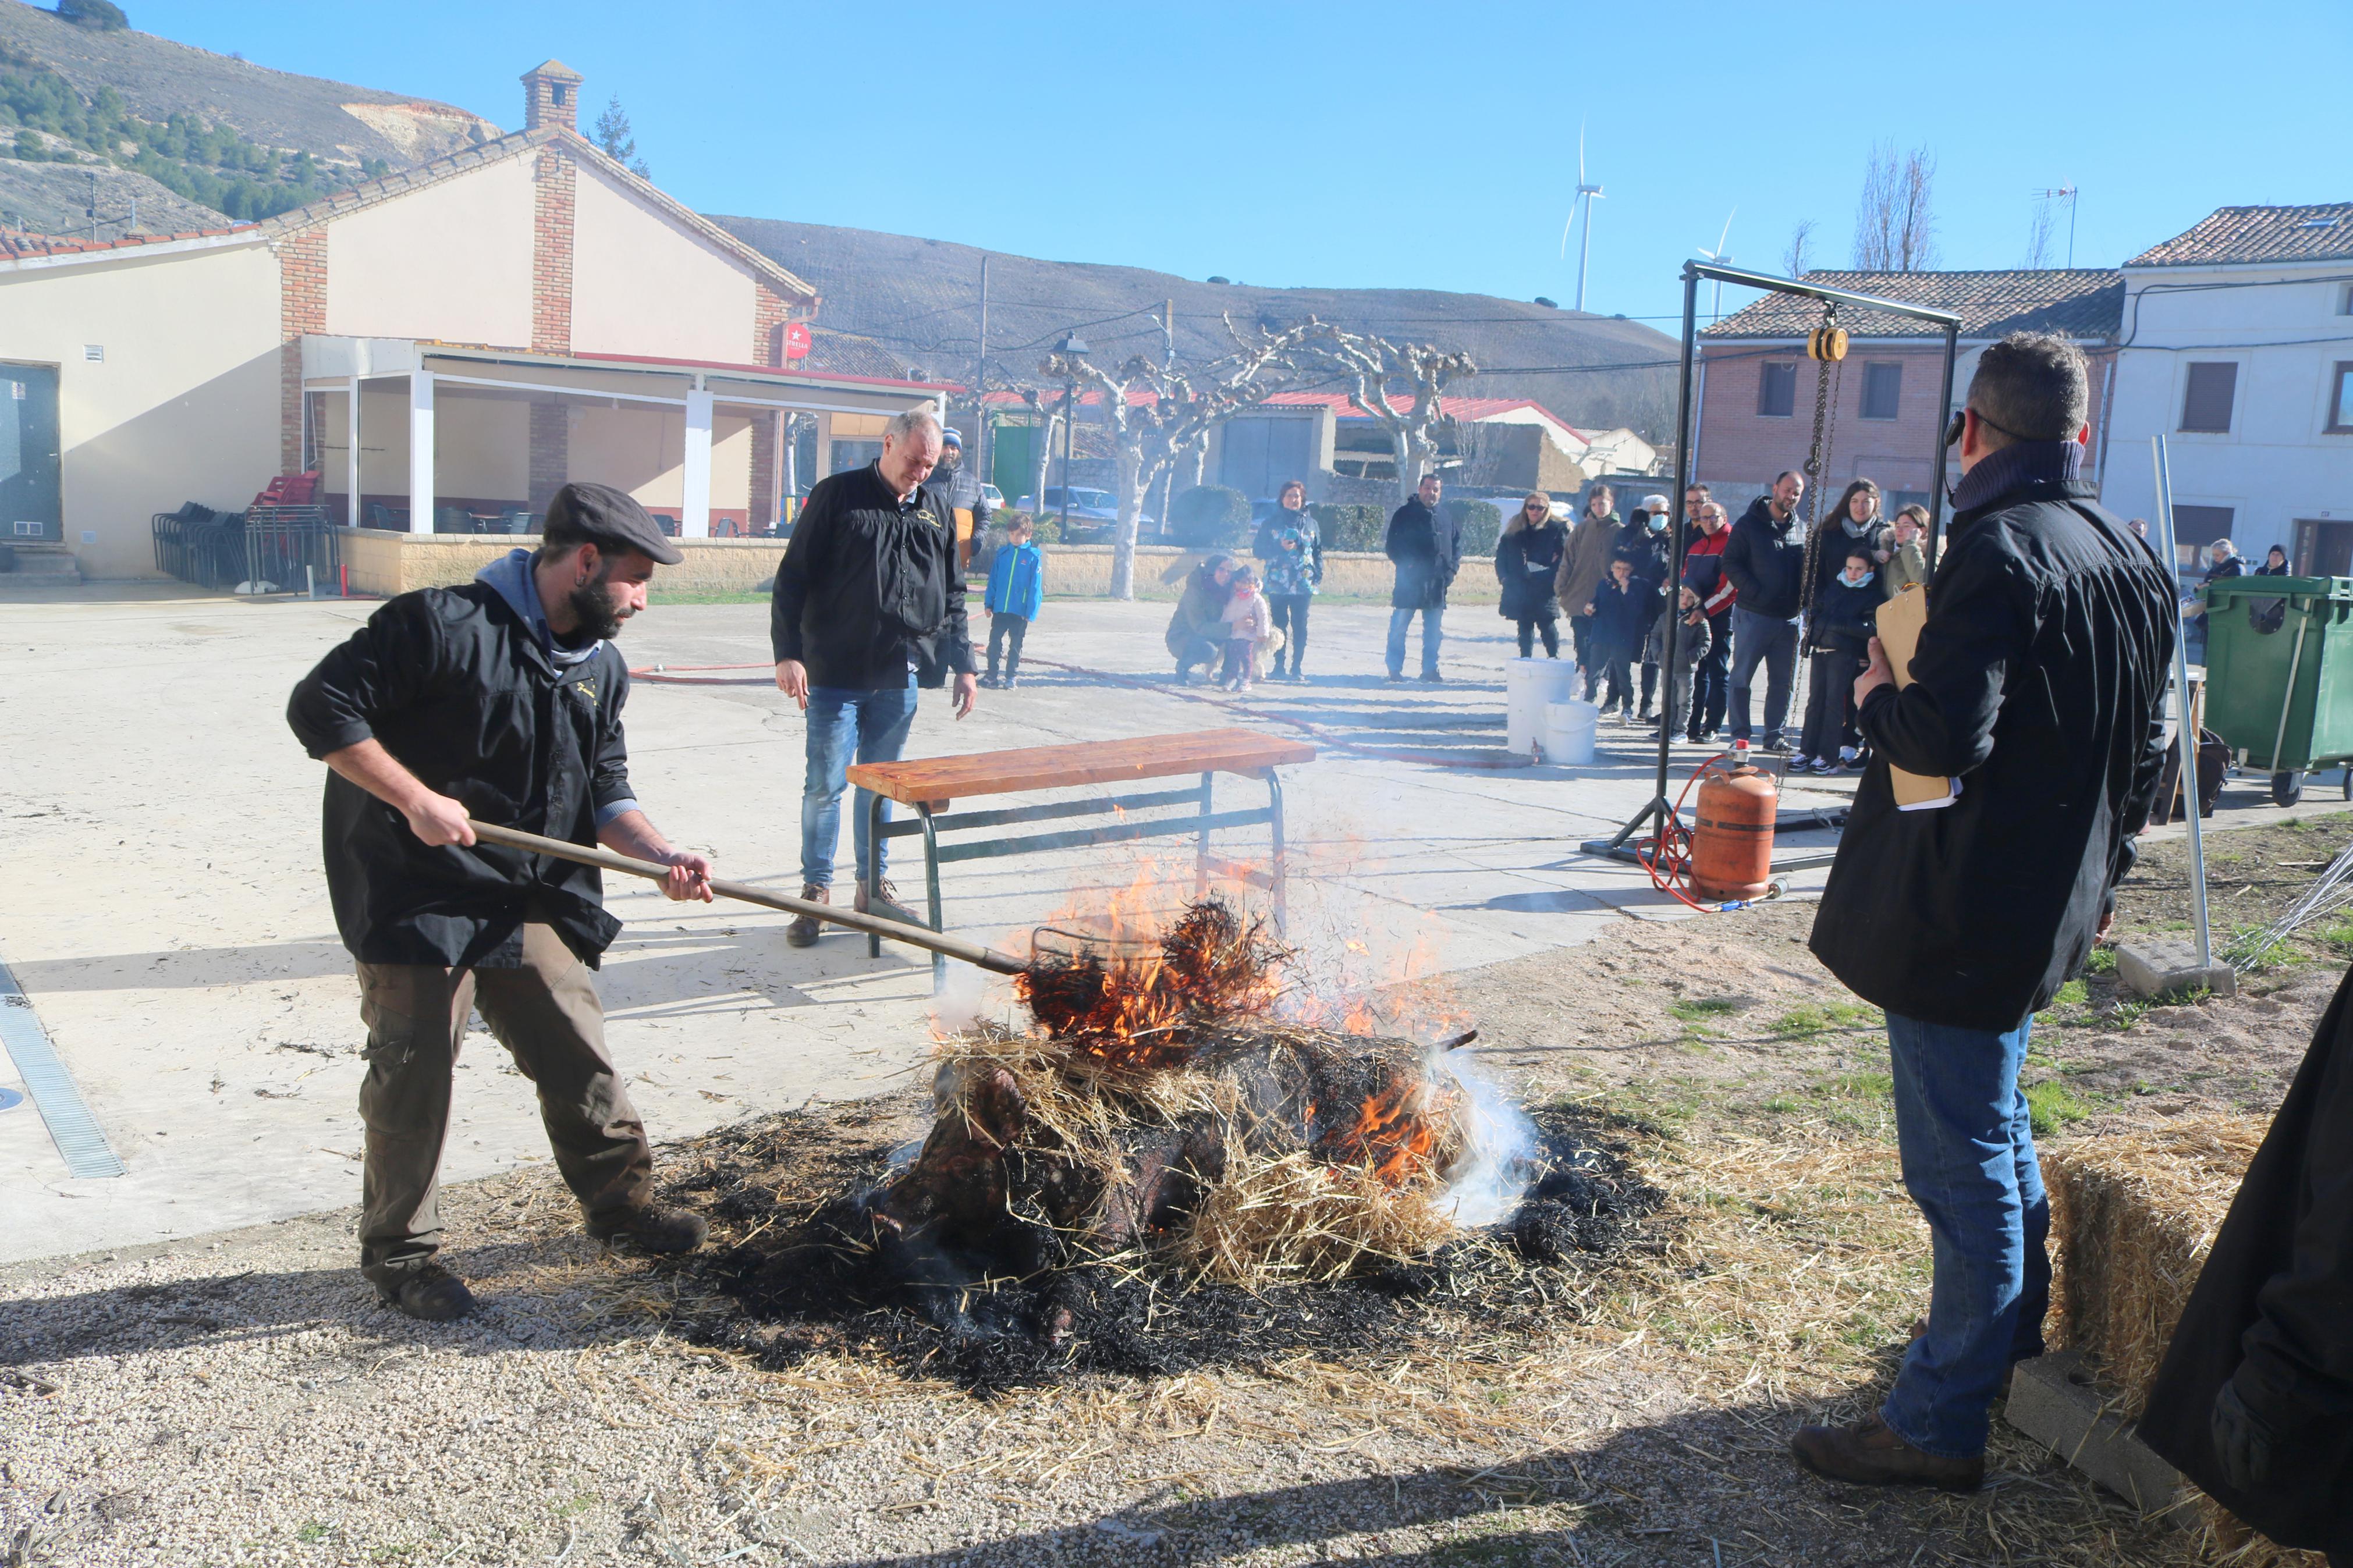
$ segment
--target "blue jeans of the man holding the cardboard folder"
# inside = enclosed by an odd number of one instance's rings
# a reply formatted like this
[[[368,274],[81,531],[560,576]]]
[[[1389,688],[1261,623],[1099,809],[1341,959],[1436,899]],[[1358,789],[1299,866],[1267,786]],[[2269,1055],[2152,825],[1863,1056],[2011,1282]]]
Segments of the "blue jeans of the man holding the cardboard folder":
[[[1880,1418],[1913,1448],[1967,1458],[2012,1361],[2042,1354],[2052,1206],[2019,1088],[2026,1034],[1887,1013],[1904,1187],[1927,1218],[1937,1276],[1927,1335]]]

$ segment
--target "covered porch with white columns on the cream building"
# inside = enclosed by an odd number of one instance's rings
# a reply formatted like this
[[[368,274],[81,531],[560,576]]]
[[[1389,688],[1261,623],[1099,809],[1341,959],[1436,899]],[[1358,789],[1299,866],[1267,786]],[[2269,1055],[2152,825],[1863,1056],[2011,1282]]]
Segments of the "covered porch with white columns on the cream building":
[[[835,423],[864,437],[955,390],[412,339],[311,334],[301,348],[304,465],[327,515],[398,534],[536,534],[562,484],[593,480],[680,538],[774,536],[793,494],[788,421],[814,425],[826,454]]]

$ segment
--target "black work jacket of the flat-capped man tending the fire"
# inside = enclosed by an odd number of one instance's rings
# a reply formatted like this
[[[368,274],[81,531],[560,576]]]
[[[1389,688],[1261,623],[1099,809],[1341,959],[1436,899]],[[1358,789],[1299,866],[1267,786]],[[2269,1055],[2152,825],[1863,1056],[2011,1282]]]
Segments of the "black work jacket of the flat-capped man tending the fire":
[[[558,668],[489,583],[384,604],[294,686],[287,724],[311,757],[374,738],[485,823],[595,844],[600,806],[631,799],[609,644]],[[591,966],[621,931],[595,867],[478,844],[428,846],[409,820],[327,773],[327,893],[362,964],[518,969],[525,922]]]

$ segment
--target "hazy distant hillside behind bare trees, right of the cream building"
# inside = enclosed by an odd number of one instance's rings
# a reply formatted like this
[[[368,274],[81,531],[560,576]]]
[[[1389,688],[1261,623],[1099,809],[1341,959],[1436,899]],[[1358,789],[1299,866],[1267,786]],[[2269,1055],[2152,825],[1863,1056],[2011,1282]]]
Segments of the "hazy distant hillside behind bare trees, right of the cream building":
[[[816,284],[819,320],[885,343],[908,364],[969,383],[979,348],[981,252],[946,240],[786,219],[711,221]],[[1146,268],[1033,261],[991,252],[988,378],[1035,376],[1071,327],[1099,355],[1160,353],[1160,306],[1176,303],[1176,353],[1212,357],[1235,324],[1327,322],[1468,348],[1485,374],[1461,390],[1534,397],[1581,425],[1673,425],[1675,341],[1640,322],[1438,289],[1261,289]],[[1139,310],[1148,315],[1136,315]],[[1120,320],[1106,320],[1120,317]],[[1553,369],[1595,367],[1595,369]],[[1602,369],[1642,367],[1642,369]]]

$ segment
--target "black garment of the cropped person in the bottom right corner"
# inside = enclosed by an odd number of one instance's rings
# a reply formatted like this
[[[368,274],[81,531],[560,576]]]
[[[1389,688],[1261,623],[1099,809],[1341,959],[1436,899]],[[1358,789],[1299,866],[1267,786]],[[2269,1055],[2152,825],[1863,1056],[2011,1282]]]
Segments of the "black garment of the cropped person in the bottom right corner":
[[[2353,1561],[2353,973],[2337,987],[2287,1100],[2231,1199],[2141,1439],[2282,1547]],[[2231,1486],[2214,1394],[2271,1432],[2273,1474]]]

